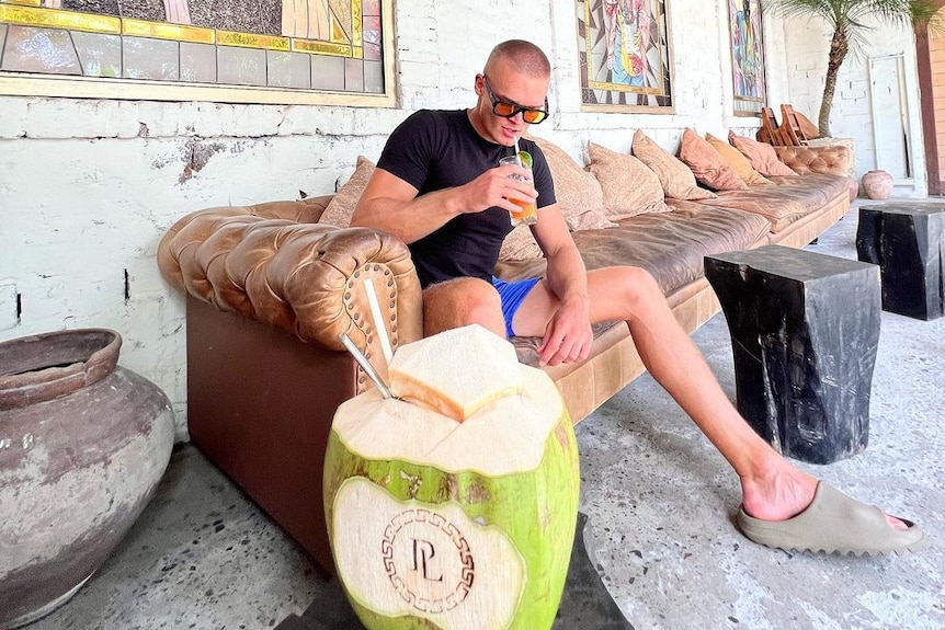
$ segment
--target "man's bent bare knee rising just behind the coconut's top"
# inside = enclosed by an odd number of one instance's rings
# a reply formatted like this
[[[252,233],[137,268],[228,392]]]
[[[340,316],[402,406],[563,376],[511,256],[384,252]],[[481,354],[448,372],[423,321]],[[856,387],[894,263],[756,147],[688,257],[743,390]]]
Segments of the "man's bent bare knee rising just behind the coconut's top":
[[[423,335],[478,323],[505,339],[496,288],[478,278],[457,278],[423,290]]]

